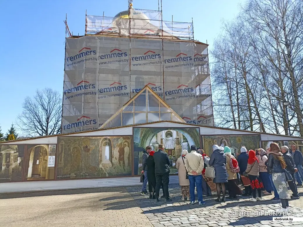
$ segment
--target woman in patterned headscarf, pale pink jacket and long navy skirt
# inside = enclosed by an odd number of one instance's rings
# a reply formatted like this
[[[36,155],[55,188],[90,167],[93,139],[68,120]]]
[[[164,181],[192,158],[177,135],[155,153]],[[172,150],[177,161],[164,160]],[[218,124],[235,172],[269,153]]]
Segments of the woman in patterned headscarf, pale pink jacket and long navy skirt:
[[[264,195],[271,195],[271,191],[273,190],[269,178],[269,173],[267,172],[267,167],[265,162],[268,160],[266,151],[263,148],[259,148],[256,150],[256,157],[259,160],[259,174],[262,180],[265,191],[263,191]]]

